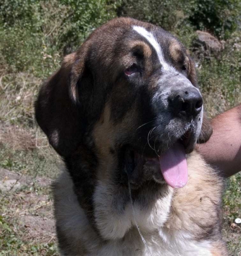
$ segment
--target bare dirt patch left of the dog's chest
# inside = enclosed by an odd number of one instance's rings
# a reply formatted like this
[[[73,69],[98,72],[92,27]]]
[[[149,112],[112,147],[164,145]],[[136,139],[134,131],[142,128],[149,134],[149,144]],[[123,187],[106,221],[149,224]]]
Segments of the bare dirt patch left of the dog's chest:
[[[0,169],[0,201],[7,202],[0,215],[23,243],[56,241],[50,185],[51,180],[45,177],[33,178]]]

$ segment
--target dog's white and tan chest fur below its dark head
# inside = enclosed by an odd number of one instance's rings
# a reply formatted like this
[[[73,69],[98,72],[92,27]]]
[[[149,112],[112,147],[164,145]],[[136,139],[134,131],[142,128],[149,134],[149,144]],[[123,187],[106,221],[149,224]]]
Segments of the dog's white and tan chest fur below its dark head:
[[[198,221],[209,227],[217,219],[215,209],[220,204],[221,182],[213,174],[210,176],[211,169],[197,154],[187,161],[190,171],[187,185],[175,191],[165,186],[162,196],[146,209],[134,201],[135,218],[130,201],[127,203],[126,198],[119,196],[123,191],[116,190],[110,183],[99,182],[93,197],[99,234],[92,229],[74,194],[73,182],[64,172],[55,184],[55,218],[71,241],[73,251],[86,248],[88,253],[77,254],[80,256],[213,255],[213,241],[197,240],[195,235],[201,232]],[[146,192],[142,196],[148,197]],[[147,246],[138,233],[135,220]]]

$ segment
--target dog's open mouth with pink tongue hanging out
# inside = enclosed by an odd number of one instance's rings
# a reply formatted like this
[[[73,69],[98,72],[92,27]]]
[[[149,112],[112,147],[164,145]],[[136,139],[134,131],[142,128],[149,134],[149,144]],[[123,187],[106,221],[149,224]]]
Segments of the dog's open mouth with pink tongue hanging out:
[[[158,152],[140,153],[131,146],[125,150],[125,171],[133,186],[143,180],[155,180],[158,183],[167,183],[173,188],[182,188],[187,184],[186,153],[193,148],[193,136],[187,131],[170,148]]]

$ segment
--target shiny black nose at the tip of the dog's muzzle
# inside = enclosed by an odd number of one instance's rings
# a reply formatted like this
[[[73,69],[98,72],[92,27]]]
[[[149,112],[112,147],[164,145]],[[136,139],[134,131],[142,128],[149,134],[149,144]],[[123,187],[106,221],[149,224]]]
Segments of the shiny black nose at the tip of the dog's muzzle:
[[[203,104],[201,94],[195,87],[173,93],[168,101],[174,114],[193,117],[201,112]]]

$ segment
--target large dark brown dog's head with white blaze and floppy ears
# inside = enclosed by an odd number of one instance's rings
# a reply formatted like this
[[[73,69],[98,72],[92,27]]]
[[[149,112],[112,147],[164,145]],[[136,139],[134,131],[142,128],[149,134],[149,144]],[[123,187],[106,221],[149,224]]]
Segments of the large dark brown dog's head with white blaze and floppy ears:
[[[36,118],[93,213],[100,181],[123,189],[116,199],[123,207],[128,180],[136,194],[165,182],[184,186],[185,177],[179,183],[160,169],[209,139],[202,103],[183,45],[159,27],[118,18],[65,57],[40,90]]]

